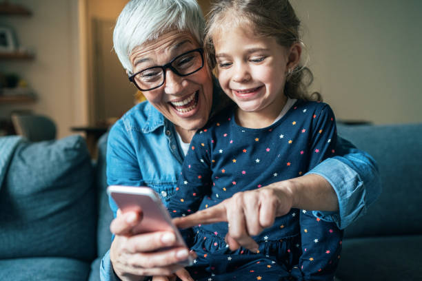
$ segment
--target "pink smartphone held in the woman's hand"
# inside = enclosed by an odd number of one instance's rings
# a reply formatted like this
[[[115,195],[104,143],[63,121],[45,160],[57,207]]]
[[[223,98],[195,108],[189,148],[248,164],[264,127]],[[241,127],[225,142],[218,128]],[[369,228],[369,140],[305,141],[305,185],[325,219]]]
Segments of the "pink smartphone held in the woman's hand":
[[[187,247],[179,229],[173,224],[172,218],[161,202],[157,192],[150,187],[127,187],[121,185],[110,185],[107,193],[116,202],[119,209],[123,211],[142,211],[142,220],[132,230],[134,234],[148,233],[155,231],[172,231],[176,235],[176,244],[172,247]],[[163,250],[161,249],[161,250]],[[183,266],[193,264],[193,258],[179,262]]]

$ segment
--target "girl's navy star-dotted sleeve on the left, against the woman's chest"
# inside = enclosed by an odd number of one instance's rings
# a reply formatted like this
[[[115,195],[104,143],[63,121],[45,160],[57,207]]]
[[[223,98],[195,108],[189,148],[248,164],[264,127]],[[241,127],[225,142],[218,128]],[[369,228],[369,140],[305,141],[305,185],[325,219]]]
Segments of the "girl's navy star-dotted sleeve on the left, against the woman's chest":
[[[211,160],[207,136],[197,133],[192,138],[177,181],[176,193],[168,203],[173,218],[198,211],[203,197],[211,192]]]

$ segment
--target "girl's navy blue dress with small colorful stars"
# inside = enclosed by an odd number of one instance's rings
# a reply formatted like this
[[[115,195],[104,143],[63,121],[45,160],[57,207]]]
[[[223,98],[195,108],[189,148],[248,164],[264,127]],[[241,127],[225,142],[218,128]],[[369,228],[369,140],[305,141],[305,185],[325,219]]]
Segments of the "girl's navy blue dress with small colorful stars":
[[[296,178],[334,154],[336,125],[329,105],[297,101],[262,129],[237,125],[223,112],[195,134],[168,209],[173,217],[217,205],[239,191]],[[343,231],[312,212],[291,209],[254,240],[259,253],[230,251],[228,223],[182,231],[198,258],[195,280],[332,280]]]

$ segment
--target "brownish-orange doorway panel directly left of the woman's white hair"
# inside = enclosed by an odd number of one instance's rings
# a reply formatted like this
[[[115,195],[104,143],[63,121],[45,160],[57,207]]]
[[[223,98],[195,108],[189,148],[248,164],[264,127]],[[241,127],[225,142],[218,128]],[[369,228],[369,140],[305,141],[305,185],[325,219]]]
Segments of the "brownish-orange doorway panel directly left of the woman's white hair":
[[[106,119],[110,117],[120,117],[134,104],[133,95],[136,90],[128,82],[127,75],[112,50],[111,36],[114,22],[128,0],[82,1],[86,3],[88,115],[90,123],[96,124],[106,122]],[[110,32],[105,32],[103,25],[110,26]],[[102,45],[99,45],[100,41]],[[111,65],[112,69],[103,69],[105,65],[108,67]],[[108,81],[104,81],[105,79]],[[106,92],[104,92],[104,87],[106,87]],[[117,105],[117,110],[114,105]]]

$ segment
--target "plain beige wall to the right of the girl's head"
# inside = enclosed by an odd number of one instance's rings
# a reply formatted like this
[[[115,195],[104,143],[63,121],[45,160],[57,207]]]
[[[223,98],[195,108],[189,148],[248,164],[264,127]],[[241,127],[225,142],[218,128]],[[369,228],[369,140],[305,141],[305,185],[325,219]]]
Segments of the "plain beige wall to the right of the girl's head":
[[[292,0],[338,119],[422,122],[422,1]]]

